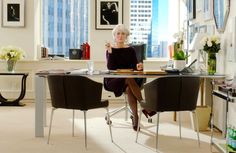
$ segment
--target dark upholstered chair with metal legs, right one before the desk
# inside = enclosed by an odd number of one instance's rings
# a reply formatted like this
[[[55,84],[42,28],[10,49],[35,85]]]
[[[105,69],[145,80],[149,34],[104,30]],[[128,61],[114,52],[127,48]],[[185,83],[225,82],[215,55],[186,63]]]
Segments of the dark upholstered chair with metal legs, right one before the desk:
[[[144,85],[145,101],[141,102],[142,108],[157,112],[156,149],[158,149],[159,114],[167,111],[191,111],[196,113],[196,105],[200,86],[200,78],[194,76],[167,76],[155,79]],[[140,110],[140,120],[142,112]],[[199,129],[197,114],[194,115],[197,127],[197,138],[199,140]],[[179,115],[180,117],[180,115]],[[181,121],[179,118],[179,131],[181,138]],[[138,139],[136,136],[136,142]]]

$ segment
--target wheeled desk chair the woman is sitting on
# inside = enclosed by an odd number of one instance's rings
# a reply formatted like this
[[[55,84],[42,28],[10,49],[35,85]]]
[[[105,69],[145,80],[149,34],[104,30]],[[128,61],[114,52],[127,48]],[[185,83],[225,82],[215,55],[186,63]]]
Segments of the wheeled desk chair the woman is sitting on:
[[[146,44],[130,44],[130,46],[135,49],[138,63],[143,62],[143,60],[146,58]],[[146,79],[143,79],[143,83],[145,83],[145,82],[146,82]],[[132,114],[132,111],[130,110],[129,105],[128,105],[127,93],[124,92],[123,96],[124,96],[124,103],[125,103],[124,106],[110,111],[109,115],[110,115],[110,117],[112,117],[112,116],[124,111],[125,112],[125,121],[127,121],[128,120],[128,113]],[[107,117],[105,117],[105,119],[107,120]],[[151,119],[150,119],[150,121],[151,121]],[[111,120],[107,121],[107,124],[111,124],[111,123],[112,123]]]

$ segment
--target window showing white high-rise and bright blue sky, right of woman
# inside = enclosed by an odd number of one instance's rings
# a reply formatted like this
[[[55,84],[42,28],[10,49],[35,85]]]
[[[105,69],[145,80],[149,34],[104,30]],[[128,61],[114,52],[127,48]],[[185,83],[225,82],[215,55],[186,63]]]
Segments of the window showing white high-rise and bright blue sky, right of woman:
[[[171,7],[173,2],[173,0],[131,0],[130,41],[147,44],[148,58],[169,56],[168,45],[173,42],[170,38],[173,36],[173,29],[178,26],[178,23],[173,24],[169,19],[169,17],[175,19],[178,10],[177,5]],[[176,10],[175,15],[170,14],[173,9]],[[173,29],[170,30],[169,27]]]

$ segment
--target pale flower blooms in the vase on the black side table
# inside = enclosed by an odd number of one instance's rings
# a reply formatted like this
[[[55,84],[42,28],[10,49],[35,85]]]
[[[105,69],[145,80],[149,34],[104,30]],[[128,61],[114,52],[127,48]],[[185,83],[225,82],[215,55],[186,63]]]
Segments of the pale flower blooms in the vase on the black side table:
[[[25,52],[19,47],[7,46],[0,50],[0,59],[18,61],[25,57]]]

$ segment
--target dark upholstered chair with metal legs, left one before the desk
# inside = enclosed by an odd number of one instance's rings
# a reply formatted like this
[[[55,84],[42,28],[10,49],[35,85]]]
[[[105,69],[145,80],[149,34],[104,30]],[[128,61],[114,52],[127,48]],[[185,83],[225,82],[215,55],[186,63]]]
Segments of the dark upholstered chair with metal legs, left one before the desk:
[[[73,110],[73,135],[74,110],[81,110],[84,112],[85,147],[87,148],[86,112],[95,108],[106,108],[108,112],[108,100],[101,100],[103,85],[84,76],[55,74],[48,76],[48,86],[53,107],[48,134],[48,143],[51,134],[54,110],[58,108]],[[109,119],[110,116],[108,115],[108,120]],[[109,128],[111,141],[113,142],[110,125]]]

